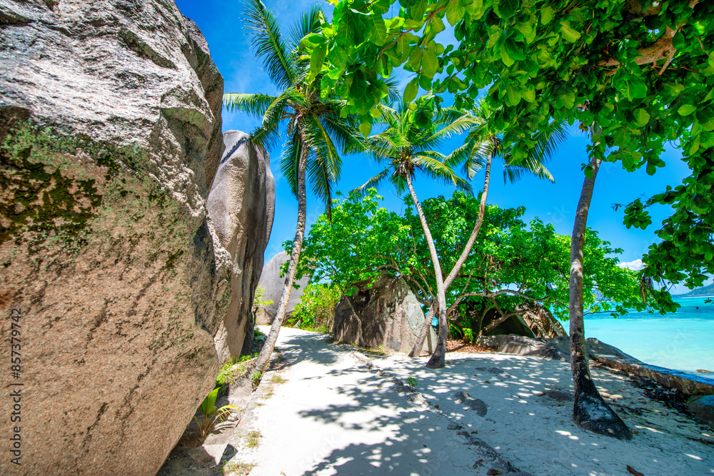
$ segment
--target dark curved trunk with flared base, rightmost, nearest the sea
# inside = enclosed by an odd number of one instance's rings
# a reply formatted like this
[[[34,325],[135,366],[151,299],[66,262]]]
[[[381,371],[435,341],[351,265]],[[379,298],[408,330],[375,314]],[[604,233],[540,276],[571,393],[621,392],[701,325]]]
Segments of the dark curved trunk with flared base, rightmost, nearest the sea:
[[[600,159],[590,161],[593,174],[585,177],[580,192],[578,211],[575,213],[573,236],[570,240],[570,370],[575,385],[573,422],[600,435],[630,439],[632,433],[625,422],[608,407],[593,383],[585,350],[585,326],[583,323],[583,247],[588,209],[593,198],[595,177],[600,168]]]

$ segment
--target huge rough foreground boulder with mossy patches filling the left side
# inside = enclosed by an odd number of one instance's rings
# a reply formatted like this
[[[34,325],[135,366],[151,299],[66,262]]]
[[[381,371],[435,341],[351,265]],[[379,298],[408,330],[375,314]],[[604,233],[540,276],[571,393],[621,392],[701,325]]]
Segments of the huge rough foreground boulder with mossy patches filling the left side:
[[[154,475],[231,298],[205,219],[223,79],[173,1],[1,0],[0,45],[0,358],[15,333],[23,384],[0,474]]]

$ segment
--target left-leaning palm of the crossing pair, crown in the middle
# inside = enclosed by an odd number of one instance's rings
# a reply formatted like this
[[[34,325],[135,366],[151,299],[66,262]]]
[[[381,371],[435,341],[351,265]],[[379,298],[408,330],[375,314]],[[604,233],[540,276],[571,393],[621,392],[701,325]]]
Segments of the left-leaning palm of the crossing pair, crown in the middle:
[[[442,324],[439,342],[443,341],[446,352],[446,289],[434,240],[413,187],[413,178],[419,171],[430,178],[451,183],[458,189],[471,193],[468,182],[457,176],[448,165],[449,158],[433,149],[441,146],[446,138],[467,131],[476,122],[470,114],[453,108],[436,108],[435,111],[436,102],[436,96],[430,93],[419,98],[416,104],[406,106],[401,103],[396,111],[382,108],[382,122],[386,124],[386,129],[368,137],[366,146],[376,161],[386,161],[387,166],[357,190],[364,193],[368,188],[377,187],[381,181],[388,178],[400,195],[406,189],[411,194],[434,268],[439,322]],[[431,361],[427,366],[431,366]]]

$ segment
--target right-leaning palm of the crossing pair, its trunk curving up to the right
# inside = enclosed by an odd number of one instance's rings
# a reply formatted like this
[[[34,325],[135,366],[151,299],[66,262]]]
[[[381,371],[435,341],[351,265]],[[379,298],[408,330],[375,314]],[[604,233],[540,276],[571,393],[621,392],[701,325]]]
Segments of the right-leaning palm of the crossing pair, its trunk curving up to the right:
[[[481,230],[483,218],[486,216],[486,198],[488,197],[488,186],[491,183],[491,163],[493,159],[500,156],[503,161],[503,181],[517,181],[525,175],[535,175],[540,178],[545,178],[553,181],[553,176],[543,165],[555,153],[555,149],[562,145],[567,138],[565,133],[564,121],[553,121],[545,131],[538,131],[533,134],[531,141],[533,147],[529,150],[528,156],[521,161],[516,161],[512,155],[511,148],[504,148],[501,139],[498,138],[498,131],[493,130],[492,118],[493,113],[486,103],[479,103],[473,111],[473,117],[476,118],[476,124],[468,132],[466,141],[463,146],[453,151],[448,158],[448,165],[451,167],[463,163],[463,171],[469,179],[473,178],[478,171],[486,168],[486,175],[483,180],[483,192],[481,193],[481,203],[478,208],[478,218],[471,231],[466,245],[454,263],[451,272],[444,279],[445,292],[451,286],[453,281],[458,277],[463,263],[466,263],[468,254],[471,253],[473,243],[476,241],[478,232]],[[421,350],[426,340],[429,325],[434,313],[434,308],[429,310],[426,319],[421,328],[421,332],[417,338],[409,355],[418,357],[421,355]],[[439,319],[439,336],[434,349],[433,355],[429,360],[428,366],[431,368],[442,368],[446,364],[446,336],[447,325],[446,321],[442,322]]]

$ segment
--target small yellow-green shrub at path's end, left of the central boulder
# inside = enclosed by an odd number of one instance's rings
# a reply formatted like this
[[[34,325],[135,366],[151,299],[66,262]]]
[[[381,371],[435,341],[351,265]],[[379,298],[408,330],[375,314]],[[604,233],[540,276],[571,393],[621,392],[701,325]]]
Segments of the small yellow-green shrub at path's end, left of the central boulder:
[[[306,285],[300,302],[293,310],[293,317],[288,319],[288,325],[315,332],[330,332],[335,321],[335,305],[341,296],[336,285]]]

